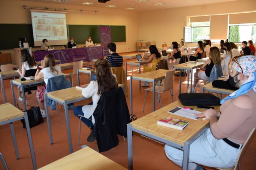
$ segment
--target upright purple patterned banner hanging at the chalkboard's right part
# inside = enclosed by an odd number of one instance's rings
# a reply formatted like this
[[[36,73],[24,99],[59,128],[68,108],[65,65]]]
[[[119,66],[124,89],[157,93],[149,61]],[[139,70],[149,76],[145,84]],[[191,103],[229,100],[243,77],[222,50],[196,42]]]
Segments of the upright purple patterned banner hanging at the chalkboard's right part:
[[[103,49],[108,50],[107,45],[112,42],[110,26],[99,26],[99,35],[101,36]]]

